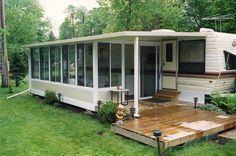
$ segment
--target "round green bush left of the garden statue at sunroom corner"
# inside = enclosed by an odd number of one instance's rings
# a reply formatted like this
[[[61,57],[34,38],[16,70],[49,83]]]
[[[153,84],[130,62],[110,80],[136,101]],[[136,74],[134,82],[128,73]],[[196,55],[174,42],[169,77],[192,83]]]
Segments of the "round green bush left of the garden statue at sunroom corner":
[[[98,119],[102,123],[113,123],[116,121],[116,111],[118,104],[112,101],[105,102],[98,110]]]

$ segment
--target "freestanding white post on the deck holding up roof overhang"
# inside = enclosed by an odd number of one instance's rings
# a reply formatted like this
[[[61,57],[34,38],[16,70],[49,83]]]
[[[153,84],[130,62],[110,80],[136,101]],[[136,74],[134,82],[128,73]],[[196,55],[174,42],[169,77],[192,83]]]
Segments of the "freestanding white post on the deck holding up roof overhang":
[[[134,116],[139,117],[138,100],[139,98],[139,37],[134,40]]]

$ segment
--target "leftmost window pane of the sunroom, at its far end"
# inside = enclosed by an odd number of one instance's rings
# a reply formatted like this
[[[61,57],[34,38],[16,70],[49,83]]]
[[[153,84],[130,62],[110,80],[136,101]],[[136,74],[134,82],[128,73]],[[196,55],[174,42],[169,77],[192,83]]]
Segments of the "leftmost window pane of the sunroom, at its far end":
[[[39,79],[39,48],[31,49],[31,77]]]

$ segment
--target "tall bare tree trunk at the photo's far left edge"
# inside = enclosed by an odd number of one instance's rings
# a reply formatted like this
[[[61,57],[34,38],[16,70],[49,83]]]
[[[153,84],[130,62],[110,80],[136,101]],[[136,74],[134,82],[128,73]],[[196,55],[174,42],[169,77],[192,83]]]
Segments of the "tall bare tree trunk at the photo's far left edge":
[[[2,87],[9,86],[9,66],[8,66],[8,56],[6,47],[6,34],[5,34],[5,10],[4,10],[5,0],[0,0],[0,24],[3,30],[2,32]]]

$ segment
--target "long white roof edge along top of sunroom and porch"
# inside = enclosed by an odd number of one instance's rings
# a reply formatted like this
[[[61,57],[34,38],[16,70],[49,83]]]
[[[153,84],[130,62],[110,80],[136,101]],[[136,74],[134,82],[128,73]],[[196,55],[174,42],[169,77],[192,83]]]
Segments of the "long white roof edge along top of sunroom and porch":
[[[151,31],[123,31],[123,32],[115,32],[115,33],[107,33],[100,34],[94,36],[86,36],[79,37],[73,39],[64,39],[64,40],[56,40],[49,42],[39,42],[23,45],[24,48],[30,47],[39,47],[39,46],[49,46],[49,45],[58,45],[58,44],[66,44],[66,43],[76,43],[76,42],[86,42],[86,41],[94,41],[94,40],[102,40],[102,39],[110,39],[117,37],[206,37],[207,33],[203,32],[151,32]]]

